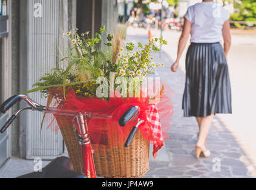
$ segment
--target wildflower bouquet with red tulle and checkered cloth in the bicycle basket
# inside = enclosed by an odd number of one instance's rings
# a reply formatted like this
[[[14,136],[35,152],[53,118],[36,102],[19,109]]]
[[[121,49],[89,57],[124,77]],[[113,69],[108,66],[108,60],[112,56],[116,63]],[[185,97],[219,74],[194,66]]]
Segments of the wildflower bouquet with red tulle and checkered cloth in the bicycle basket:
[[[157,151],[168,138],[164,132],[170,128],[173,109],[170,98],[165,94],[168,91],[166,85],[161,83],[158,90],[151,94],[145,93],[142,86],[152,71],[164,65],[154,62],[152,52],[158,52],[158,46],[166,45],[166,40],[149,39],[146,45],[140,42],[138,45],[132,42],[123,44],[122,33],[117,31],[109,34],[105,26],[101,27],[99,33],[95,33],[94,38],[89,37],[89,31],[78,34],[77,30],[63,34],[70,42],[70,49],[61,62],[68,64],[45,73],[33,85],[35,88],[25,93],[40,91],[42,97],[48,97],[47,105],[55,105],[60,111],[108,113],[112,118],[118,118],[129,106],[138,105],[141,109],[138,117],[145,121],[139,126],[140,133],[143,140],[152,141],[153,155],[156,157]],[[148,88],[155,89],[154,85],[146,83],[146,90]],[[63,121],[57,120],[61,128]],[[110,147],[123,143],[129,131],[120,128],[116,120],[90,119],[88,128],[92,142]],[[65,121],[71,125],[70,119]],[[131,122],[127,128],[130,129],[133,124]],[[110,144],[106,135],[116,137],[117,132],[118,138]]]

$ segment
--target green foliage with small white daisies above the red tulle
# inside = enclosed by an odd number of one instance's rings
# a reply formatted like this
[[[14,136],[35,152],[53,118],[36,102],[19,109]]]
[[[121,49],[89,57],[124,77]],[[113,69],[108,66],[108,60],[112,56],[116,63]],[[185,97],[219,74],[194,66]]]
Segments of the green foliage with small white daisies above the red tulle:
[[[96,84],[98,77],[105,77],[107,84],[110,81],[110,72],[115,73],[115,77],[138,77],[138,85],[142,83],[141,77],[146,77],[150,72],[155,70],[155,67],[163,64],[155,64],[152,62],[152,52],[157,52],[160,49],[154,44],[166,45],[167,42],[163,38],[149,40],[147,45],[138,43],[138,49],[134,51],[135,45],[131,42],[127,43],[123,48],[121,44],[118,46],[118,59],[114,64],[113,55],[113,38],[114,36],[105,31],[105,27],[101,27],[99,33],[95,33],[95,38],[89,38],[89,31],[79,35],[78,29],[73,29],[63,37],[67,37],[70,44],[70,54],[61,59],[67,61],[68,65],[65,69],[54,68],[51,72],[45,73],[39,81],[33,84],[32,90],[24,93],[40,91],[43,97],[48,96],[50,87],[63,87],[64,94],[53,94],[54,97],[65,98],[65,90],[68,87],[73,88],[78,96],[95,96]],[[101,35],[107,33],[107,43],[102,43]],[[99,44],[96,46],[96,44]],[[96,48],[95,48],[96,47]],[[115,59],[116,60],[116,59]],[[117,84],[118,86],[118,84]],[[115,85],[116,87],[116,85]],[[52,98],[52,97],[51,97]]]

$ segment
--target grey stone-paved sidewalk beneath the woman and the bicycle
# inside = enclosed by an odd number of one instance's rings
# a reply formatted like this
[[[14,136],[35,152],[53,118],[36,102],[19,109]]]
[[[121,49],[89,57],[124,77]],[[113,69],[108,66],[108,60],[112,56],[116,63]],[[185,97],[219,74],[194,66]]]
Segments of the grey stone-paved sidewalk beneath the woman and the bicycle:
[[[157,36],[159,31],[152,31]],[[170,65],[176,58],[177,40],[180,33],[172,32],[168,36],[168,45],[163,46],[162,56],[155,53],[154,61],[164,63],[164,67],[154,73],[175,91],[172,98],[174,114],[171,128],[167,132],[170,137],[164,147],[158,151],[157,159],[150,153],[150,170],[143,178],[255,178],[256,156],[248,156],[252,152],[248,144],[230,130],[227,122],[216,114],[207,140],[211,151],[208,158],[195,158],[195,144],[198,126],[194,117],[183,117],[182,95],[185,85],[185,53],[180,61],[177,72],[170,71]],[[127,41],[147,43],[148,31],[128,28]],[[43,161],[45,166],[49,161]],[[10,159],[0,169],[0,178],[14,178],[24,173],[33,172],[32,160]]]

